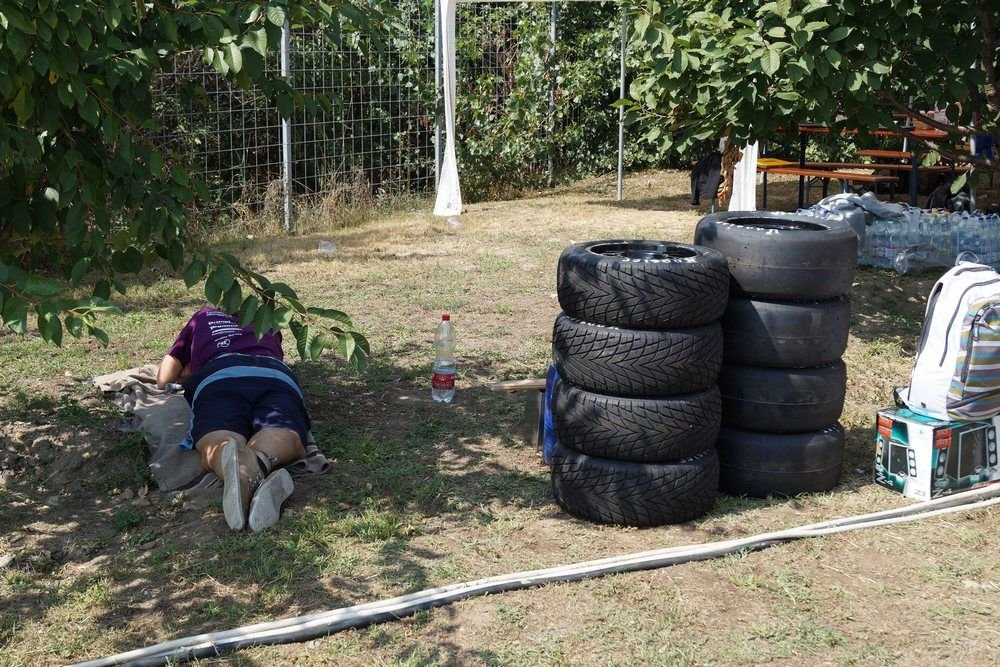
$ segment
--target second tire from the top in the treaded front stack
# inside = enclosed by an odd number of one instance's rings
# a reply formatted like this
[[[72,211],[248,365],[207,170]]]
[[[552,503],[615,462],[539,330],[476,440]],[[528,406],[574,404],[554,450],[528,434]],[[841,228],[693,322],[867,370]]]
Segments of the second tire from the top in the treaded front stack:
[[[552,355],[559,377],[612,396],[690,394],[715,384],[722,327],[647,331],[556,318]]]

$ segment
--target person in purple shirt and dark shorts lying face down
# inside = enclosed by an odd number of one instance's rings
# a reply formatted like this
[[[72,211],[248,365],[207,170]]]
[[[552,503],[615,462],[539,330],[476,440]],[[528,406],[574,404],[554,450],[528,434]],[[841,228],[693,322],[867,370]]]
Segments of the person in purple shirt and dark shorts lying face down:
[[[156,376],[160,389],[182,380],[191,427],[181,447],[198,451],[223,481],[222,510],[233,530],[278,521],[292,493],[282,468],[305,456],[309,414],[298,378],[284,363],[281,333],[260,339],[217,308],[188,320]]]

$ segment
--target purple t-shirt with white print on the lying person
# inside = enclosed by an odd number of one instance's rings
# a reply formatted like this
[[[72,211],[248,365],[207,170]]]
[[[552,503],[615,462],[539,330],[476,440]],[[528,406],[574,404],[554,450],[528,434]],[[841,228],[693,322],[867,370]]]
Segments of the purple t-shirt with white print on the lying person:
[[[202,308],[184,325],[167,354],[184,366],[190,365],[191,372],[197,373],[220,354],[233,352],[283,361],[281,332],[268,331],[257,340],[252,325],[240,328],[238,317],[215,308]]]

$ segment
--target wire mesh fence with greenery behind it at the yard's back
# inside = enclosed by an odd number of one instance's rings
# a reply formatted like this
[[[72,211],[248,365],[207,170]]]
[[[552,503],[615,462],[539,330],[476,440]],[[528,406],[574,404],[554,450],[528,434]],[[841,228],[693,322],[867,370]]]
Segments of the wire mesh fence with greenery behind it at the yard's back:
[[[289,79],[335,102],[291,119],[296,202],[380,200],[430,192],[435,181],[433,0],[401,0],[391,38],[337,46],[319,30],[291,32]],[[456,22],[459,165],[470,199],[614,169],[620,6],[613,2],[463,3]],[[268,66],[280,70],[277,49]],[[173,91],[202,94],[182,105]],[[254,91],[231,85],[200,57],[161,77],[162,138],[208,185],[209,211],[281,215],[282,121]],[[503,184],[500,186],[499,184]]]

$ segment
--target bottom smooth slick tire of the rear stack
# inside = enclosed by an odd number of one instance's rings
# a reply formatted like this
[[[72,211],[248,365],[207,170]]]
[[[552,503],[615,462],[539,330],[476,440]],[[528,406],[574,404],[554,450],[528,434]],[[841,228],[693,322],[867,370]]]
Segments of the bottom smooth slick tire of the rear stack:
[[[829,491],[840,481],[844,464],[840,424],[785,435],[723,428],[716,447],[719,488],[730,495],[764,498]]]

